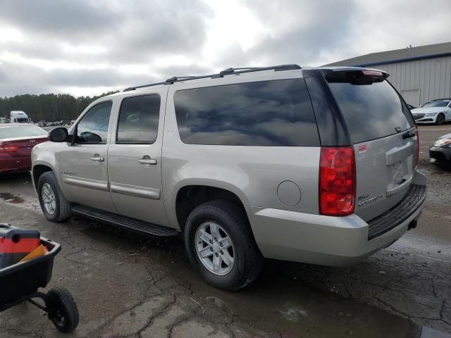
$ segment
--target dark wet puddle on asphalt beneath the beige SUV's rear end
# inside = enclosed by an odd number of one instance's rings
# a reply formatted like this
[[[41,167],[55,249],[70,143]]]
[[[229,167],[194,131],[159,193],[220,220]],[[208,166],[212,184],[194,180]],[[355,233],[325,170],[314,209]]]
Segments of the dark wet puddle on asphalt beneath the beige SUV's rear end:
[[[173,266],[175,265],[175,266]],[[173,264],[171,272],[192,291],[226,313],[282,337],[416,337],[418,327],[378,308],[314,289],[280,273],[265,273],[238,292],[209,287],[190,267]],[[278,265],[270,262],[270,265]],[[282,265],[279,268],[283,268]],[[277,270],[277,269],[276,269]]]

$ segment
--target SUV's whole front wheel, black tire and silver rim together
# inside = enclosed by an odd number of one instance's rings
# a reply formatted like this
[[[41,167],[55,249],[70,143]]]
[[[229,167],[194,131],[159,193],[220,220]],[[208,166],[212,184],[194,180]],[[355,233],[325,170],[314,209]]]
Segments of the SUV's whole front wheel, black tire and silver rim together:
[[[37,195],[42,212],[47,220],[61,222],[72,215],[70,204],[59,189],[58,181],[52,171],[47,171],[39,177]]]

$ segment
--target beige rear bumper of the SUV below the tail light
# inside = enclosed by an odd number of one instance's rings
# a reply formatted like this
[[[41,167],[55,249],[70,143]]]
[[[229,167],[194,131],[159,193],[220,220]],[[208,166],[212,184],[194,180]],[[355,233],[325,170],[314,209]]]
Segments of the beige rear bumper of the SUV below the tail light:
[[[393,244],[407,231],[409,224],[419,218],[426,198],[426,177],[416,172],[414,184],[424,186],[418,190],[421,196],[411,200],[409,210],[406,210],[407,204],[403,204],[403,200],[376,218],[393,219],[393,222],[385,222],[383,232],[372,238],[370,225],[376,220],[369,224],[355,214],[332,217],[250,206],[246,211],[259,249],[266,258],[320,265],[351,265]],[[393,215],[401,217],[393,218]]]

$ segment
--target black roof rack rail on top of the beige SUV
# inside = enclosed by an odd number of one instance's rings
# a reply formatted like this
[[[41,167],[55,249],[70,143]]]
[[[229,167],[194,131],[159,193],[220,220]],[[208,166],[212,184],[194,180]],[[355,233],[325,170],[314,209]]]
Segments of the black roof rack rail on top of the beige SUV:
[[[259,72],[261,70],[274,70],[275,72],[280,70],[295,70],[295,69],[302,69],[299,65],[273,65],[271,67],[240,67],[240,68],[227,68],[225,70],[221,70],[221,72],[217,74],[209,74],[209,75],[199,75],[199,76],[174,76],[169,78],[168,80],[164,82],[156,82],[151,84],[143,84],[141,86],[136,87],[128,87],[123,90],[123,92],[130,92],[131,90],[144,88],[144,87],[152,87],[152,86],[158,86],[160,84],[174,84],[175,82],[181,82],[186,80],[199,80],[199,79],[206,79],[211,77],[212,79],[218,78],[218,77],[224,77],[225,75],[237,75],[242,73],[251,73],[251,72]]]

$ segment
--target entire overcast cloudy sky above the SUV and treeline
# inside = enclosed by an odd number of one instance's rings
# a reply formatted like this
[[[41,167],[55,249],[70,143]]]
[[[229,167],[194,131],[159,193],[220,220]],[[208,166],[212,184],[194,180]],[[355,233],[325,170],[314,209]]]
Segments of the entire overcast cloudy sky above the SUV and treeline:
[[[0,96],[93,95],[174,75],[450,42],[450,14],[450,0],[5,0]]]

